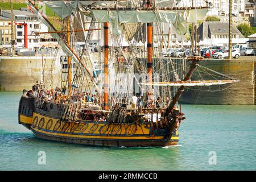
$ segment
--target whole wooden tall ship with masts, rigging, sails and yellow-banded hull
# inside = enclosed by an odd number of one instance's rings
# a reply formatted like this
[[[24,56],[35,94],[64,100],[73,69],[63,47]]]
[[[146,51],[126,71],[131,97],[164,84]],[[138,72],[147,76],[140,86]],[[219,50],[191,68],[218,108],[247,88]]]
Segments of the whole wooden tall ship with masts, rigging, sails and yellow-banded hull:
[[[184,88],[238,81],[201,67],[203,57],[193,47],[189,56],[164,57],[170,40],[169,36],[168,42],[164,40],[162,24],[184,35],[188,24],[203,20],[210,9],[209,3],[205,7],[176,7],[177,3],[28,0],[31,11],[49,28],[44,33],[57,39],[67,55],[68,74],[60,88],[51,88],[45,74],[32,90],[23,90],[19,124],[38,138],[60,142],[106,147],[176,145],[185,119],[177,103]],[[60,16],[61,30],[43,14],[42,5]],[[87,29],[85,19],[90,20]],[[84,35],[84,46],[79,50],[78,32]],[[94,32],[101,39],[97,53],[91,47]],[[72,61],[77,65],[73,76]],[[193,73],[207,79],[193,80]]]

